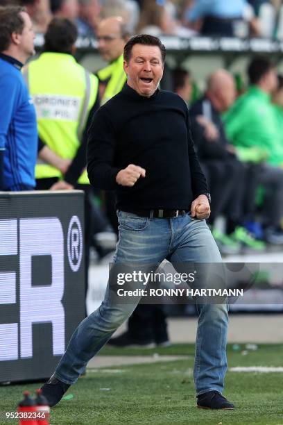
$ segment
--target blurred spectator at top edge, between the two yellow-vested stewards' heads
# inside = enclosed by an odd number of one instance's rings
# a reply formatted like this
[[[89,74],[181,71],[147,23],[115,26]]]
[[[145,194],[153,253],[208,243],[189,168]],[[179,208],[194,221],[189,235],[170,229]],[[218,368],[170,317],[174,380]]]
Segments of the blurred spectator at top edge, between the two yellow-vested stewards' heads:
[[[79,12],[76,25],[78,35],[89,37],[96,34],[96,28],[100,20],[101,6],[99,0],[78,0]]]

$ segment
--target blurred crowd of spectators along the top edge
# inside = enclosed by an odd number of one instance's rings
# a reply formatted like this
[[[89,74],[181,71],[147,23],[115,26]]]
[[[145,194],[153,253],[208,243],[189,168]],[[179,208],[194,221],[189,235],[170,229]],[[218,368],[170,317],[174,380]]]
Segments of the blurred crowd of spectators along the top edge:
[[[0,0],[12,4],[26,6],[36,33],[66,17],[79,35],[95,36],[101,19],[119,15],[130,33],[283,38],[281,0]]]

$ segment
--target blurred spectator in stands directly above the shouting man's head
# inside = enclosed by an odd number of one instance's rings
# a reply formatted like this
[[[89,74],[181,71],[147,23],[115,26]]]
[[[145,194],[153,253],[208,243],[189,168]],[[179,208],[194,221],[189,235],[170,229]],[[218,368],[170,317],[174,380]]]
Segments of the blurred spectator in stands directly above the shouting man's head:
[[[144,0],[141,6],[141,16],[137,26],[138,33],[160,35],[178,35],[191,37],[195,31],[180,26],[171,11],[171,3],[160,4],[156,0]]]

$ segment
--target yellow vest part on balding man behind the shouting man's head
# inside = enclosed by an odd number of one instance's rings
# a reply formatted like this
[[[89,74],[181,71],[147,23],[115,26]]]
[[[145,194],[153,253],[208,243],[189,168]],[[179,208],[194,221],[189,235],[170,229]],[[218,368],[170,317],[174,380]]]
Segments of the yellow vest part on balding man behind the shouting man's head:
[[[109,79],[101,99],[101,105],[104,105],[115,94],[121,92],[123,85],[126,83],[127,76],[123,70],[123,54],[107,67],[100,69],[96,74],[100,81]]]

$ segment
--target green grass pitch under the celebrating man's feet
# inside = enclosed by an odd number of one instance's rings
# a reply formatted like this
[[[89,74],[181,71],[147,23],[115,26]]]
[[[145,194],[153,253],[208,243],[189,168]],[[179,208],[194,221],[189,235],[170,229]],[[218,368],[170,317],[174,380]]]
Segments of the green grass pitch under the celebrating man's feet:
[[[243,356],[228,346],[229,367],[283,366],[283,344],[259,345]],[[194,346],[175,344],[162,349],[111,349],[101,355],[182,355],[186,360],[108,369],[89,369],[67,397],[51,410],[51,424],[283,424],[283,374],[228,372],[223,393],[237,408],[211,411],[196,408]],[[8,424],[5,412],[15,412],[23,390],[34,391],[39,384],[0,387],[0,424]],[[10,423],[17,423],[11,421]]]

